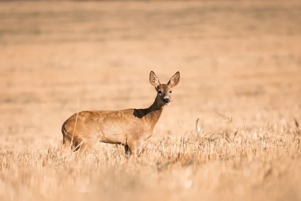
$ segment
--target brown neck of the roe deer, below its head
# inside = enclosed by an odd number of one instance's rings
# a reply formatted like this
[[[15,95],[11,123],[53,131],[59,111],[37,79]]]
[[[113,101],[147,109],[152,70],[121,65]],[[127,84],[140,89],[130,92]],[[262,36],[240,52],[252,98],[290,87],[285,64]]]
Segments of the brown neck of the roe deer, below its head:
[[[158,120],[161,117],[162,111],[164,109],[165,105],[160,104],[158,101],[158,97],[156,96],[155,102],[153,103],[152,106],[149,108],[145,109],[145,112],[147,115],[145,115],[145,118],[149,121],[150,125],[152,127],[155,126],[155,124],[158,122]]]

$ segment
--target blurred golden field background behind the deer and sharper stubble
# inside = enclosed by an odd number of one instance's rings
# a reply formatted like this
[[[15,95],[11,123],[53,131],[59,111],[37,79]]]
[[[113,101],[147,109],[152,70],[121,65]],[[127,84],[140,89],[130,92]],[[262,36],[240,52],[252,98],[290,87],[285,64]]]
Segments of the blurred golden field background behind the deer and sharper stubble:
[[[147,108],[180,71],[150,141],[259,128],[301,111],[300,1],[1,1],[0,149],[45,149],[77,110]],[[79,106],[79,107],[78,107]]]

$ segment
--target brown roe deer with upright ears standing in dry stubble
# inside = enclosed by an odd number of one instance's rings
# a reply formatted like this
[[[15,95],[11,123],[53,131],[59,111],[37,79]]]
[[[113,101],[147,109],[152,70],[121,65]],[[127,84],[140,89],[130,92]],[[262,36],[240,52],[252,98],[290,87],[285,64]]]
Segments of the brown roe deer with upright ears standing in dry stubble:
[[[170,105],[171,89],[179,81],[179,71],[167,84],[161,84],[157,75],[150,71],[149,82],[155,86],[157,96],[149,108],[75,113],[62,126],[65,148],[72,146],[81,153],[94,142],[103,142],[123,145],[125,155],[136,153],[140,143],[153,135],[164,106]]]

